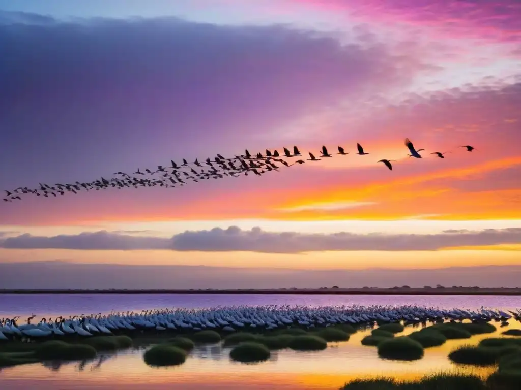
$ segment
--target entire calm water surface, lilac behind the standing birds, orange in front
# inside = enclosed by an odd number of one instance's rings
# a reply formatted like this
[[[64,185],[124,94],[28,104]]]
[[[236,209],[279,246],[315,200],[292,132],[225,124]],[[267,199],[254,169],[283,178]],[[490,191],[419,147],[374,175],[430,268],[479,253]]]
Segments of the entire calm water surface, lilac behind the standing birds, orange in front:
[[[13,315],[73,315],[160,307],[212,307],[225,305],[401,305],[418,304],[475,309],[481,305],[519,308],[516,296],[403,296],[403,295],[234,295],[234,294],[132,294],[132,295],[7,295],[0,294],[0,317]],[[508,328],[521,329],[511,321]],[[501,328],[497,333],[508,329]],[[404,334],[414,331],[408,327]],[[393,375],[414,379],[426,372],[463,371],[487,375],[493,369],[453,365],[446,356],[455,346],[477,344],[492,335],[449,341],[425,350],[415,362],[378,358],[376,348],[361,345],[368,334],[358,332],[348,342],[330,343],[320,352],[273,352],[271,359],[254,365],[232,362],[229,349],[220,345],[197,347],[178,367],[150,368],[143,348],[105,354],[93,361],[64,365],[35,363],[0,371],[0,388],[31,389],[338,389],[359,376]]]

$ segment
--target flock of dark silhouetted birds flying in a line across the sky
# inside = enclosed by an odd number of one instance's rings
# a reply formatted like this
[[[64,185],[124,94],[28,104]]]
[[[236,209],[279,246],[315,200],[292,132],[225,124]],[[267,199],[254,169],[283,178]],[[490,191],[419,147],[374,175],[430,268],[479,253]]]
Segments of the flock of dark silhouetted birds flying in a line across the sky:
[[[355,154],[358,155],[366,155],[368,152],[364,151],[364,148],[360,144],[356,144],[358,152]],[[425,149],[416,150],[412,144],[412,142],[405,138],[405,146],[409,150],[411,157],[415,157],[420,159],[421,155],[420,151],[424,151]],[[460,146],[460,148],[466,148],[467,151],[472,152],[474,148],[470,145]],[[311,152],[308,152],[309,159],[307,161],[320,161],[322,158],[332,157],[332,154],[328,152],[325,146],[322,146],[322,150],[320,151],[319,158],[315,157],[315,155]],[[443,159],[444,154],[450,152],[433,152],[430,154],[435,154],[437,157]],[[349,152],[345,152],[344,148],[341,146],[338,147],[338,153],[341,155],[349,154]],[[175,161],[170,160],[171,165],[162,166],[158,165],[157,170],[152,171],[150,169],[145,169],[141,171],[140,168],[132,175],[127,174],[125,172],[116,172],[114,175],[118,175],[116,178],[105,179],[101,177],[101,179],[97,179],[94,181],[90,181],[89,183],[80,183],[76,181],[76,183],[56,183],[54,185],[48,185],[44,183],[39,183],[38,188],[30,189],[28,187],[19,187],[17,189],[11,191],[5,191],[6,197],[3,199],[4,202],[13,202],[15,200],[22,200],[22,196],[25,194],[33,194],[35,196],[43,196],[43,197],[58,197],[64,195],[66,192],[78,193],[78,191],[90,191],[90,190],[102,190],[108,188],[138,188],[138,187],[176,187],[176,186],[184,186],[187,184],[187,181],[192,180],[196,183],[202,180],[208,179],[222,179],[225,177],[239,177],[240,175],[247,176],[248,174],[254,174],[261,176],[268,172],[278,171],[280,165],[283,166],[292,166],[295,164],[304,164],[304,160],[299,159],[295,160],[293,163],[289,163],[286,159],[288,158],[302,158],[302,153],[299,148],[296,146],[293,147],[293,152],[291,152],[288,148],[283,148],[283,154],[279,154],[277,150],[271,152],[266,150],[266,153],[263,155],[262,153],[257,153],[255,155],[250,154],[249,151],[245,151],[245,154],[235,155],[233,158],[225,158],[222,155],[217,154],[213,160],[207,158],[205,161],[197,161],[195,159],[194,162],[189,163],[187,160],[183,159],[183,163],[181,165],[177,165]],[[379,163],[385,164],[389,170],[392,171],[391,161],[395,160],[379,160]],[[280,165],[277,165],[280,164]],[[148,176],[148,177],[145,177]]]

